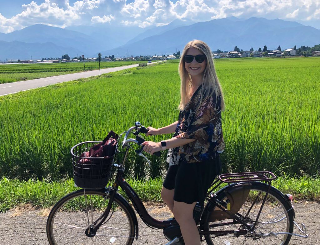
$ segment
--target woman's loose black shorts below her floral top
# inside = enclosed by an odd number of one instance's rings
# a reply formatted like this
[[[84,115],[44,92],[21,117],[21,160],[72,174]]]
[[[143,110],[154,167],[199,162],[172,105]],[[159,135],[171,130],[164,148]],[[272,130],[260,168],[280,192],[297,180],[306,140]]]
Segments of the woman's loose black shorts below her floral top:
[[[208,189],[220,171],[219,155],[205,162],[182,161],[178,166],[169,166],[162,185],[166,189],[174,189],[174,201],[203,205]]]

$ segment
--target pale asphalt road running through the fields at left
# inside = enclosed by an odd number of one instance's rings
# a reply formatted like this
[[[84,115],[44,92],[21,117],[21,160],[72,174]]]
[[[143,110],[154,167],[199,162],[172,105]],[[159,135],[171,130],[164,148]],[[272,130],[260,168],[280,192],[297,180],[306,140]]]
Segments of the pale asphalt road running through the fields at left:
[[[156,61],[148,64],[153,64],[158,62],[162,62],[162,61]],[[124,69],[133,68],[136,66],[139,66],[139,64],[101,69],[101,74],[114,72],[114,71],[121,71]],[[88,78],[93,76],[99,76],[99,70],[72,73],[72,74],[47,77],[47,78],[38,78],[38,79],[14,82],[14,83],[0,84],[0,96],[11,94],[11,93],[18,93],[20,91],[25,91],[33,88],[44,87],[44,86],[48,86],[56,83],[73,81],[79,78]]]

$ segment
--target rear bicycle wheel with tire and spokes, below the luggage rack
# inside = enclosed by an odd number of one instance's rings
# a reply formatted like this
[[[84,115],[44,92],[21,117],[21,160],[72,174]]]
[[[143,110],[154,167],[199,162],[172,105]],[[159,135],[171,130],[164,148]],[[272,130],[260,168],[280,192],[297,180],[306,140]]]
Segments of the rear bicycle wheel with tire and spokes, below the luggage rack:
[[[232,187],[230,187],[232,188]],[[236,214],[237,217],[242,219],[249,226],[253,226],[263,198],[268,190],[268,185],[261,182],[253,182],[249,195],[244,204]],[[219,200],[226,201],[227,197],[225,192],[220,192],[217,196]],[[205,240],[208,245],[238,245],[238,244],[276,244],[287,245],[290,241],[290,234],[278,234],[273,233],[293,231],[293,212],[290,210],[291,205],[284,199],[282,193],[275,189],[270,188],[266,202],[260,213],[258,222],[255,226],[254,238],[250,234],[236,236],[235,234],[228,235],[205,235]],[[217,209],[217,208],[216,208]],[[234,219],[224,219],[221,221],[210,222],[210,212],[204,214],[204,231],[236,231],[246,229],[244,225],[240,224]],[[269,234],[269,235],[267,235]]]

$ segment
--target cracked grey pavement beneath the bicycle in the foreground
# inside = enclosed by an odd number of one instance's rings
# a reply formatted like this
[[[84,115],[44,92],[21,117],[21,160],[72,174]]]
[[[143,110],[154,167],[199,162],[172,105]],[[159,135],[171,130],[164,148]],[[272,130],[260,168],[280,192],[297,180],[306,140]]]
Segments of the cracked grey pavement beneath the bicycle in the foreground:
[[[148,212],[157,219],[172,217],[169,209],[159,204],[146,205]],[[292,237],[289,244],[317,244],[320,241],[320,204],[313,202],[296,203],[294,205],[296,222],[304,222],[309,238]],[[0,213],[0,244],[1,245],[48,245],[46,237],[46,221],[49,210],[35,210],[24,206],[6,213]],[[162,245],[168,242],[162,230],[154,230],[139,221],[139,239],[133,244]],[[299,233],[295,228],[294,232]],[[206,244],[203,242],[202,244]],[[266,243],[264,243],[266,244]],[[230,244],[232,245],[232,244]]]

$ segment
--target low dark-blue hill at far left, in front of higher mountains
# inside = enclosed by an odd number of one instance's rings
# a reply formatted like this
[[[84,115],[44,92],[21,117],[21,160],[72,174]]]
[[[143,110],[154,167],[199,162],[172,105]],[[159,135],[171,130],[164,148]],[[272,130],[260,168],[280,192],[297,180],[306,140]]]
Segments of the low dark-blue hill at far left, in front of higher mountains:
[[[19,41],[0,41],[0,60],[30,60],[42,57],[61,57],[63,54],[80,53],[75,48],[65,48],[55,45],[52,42],[46,43],[25,43]],[[72,58],[72,57],[70,57]]]

